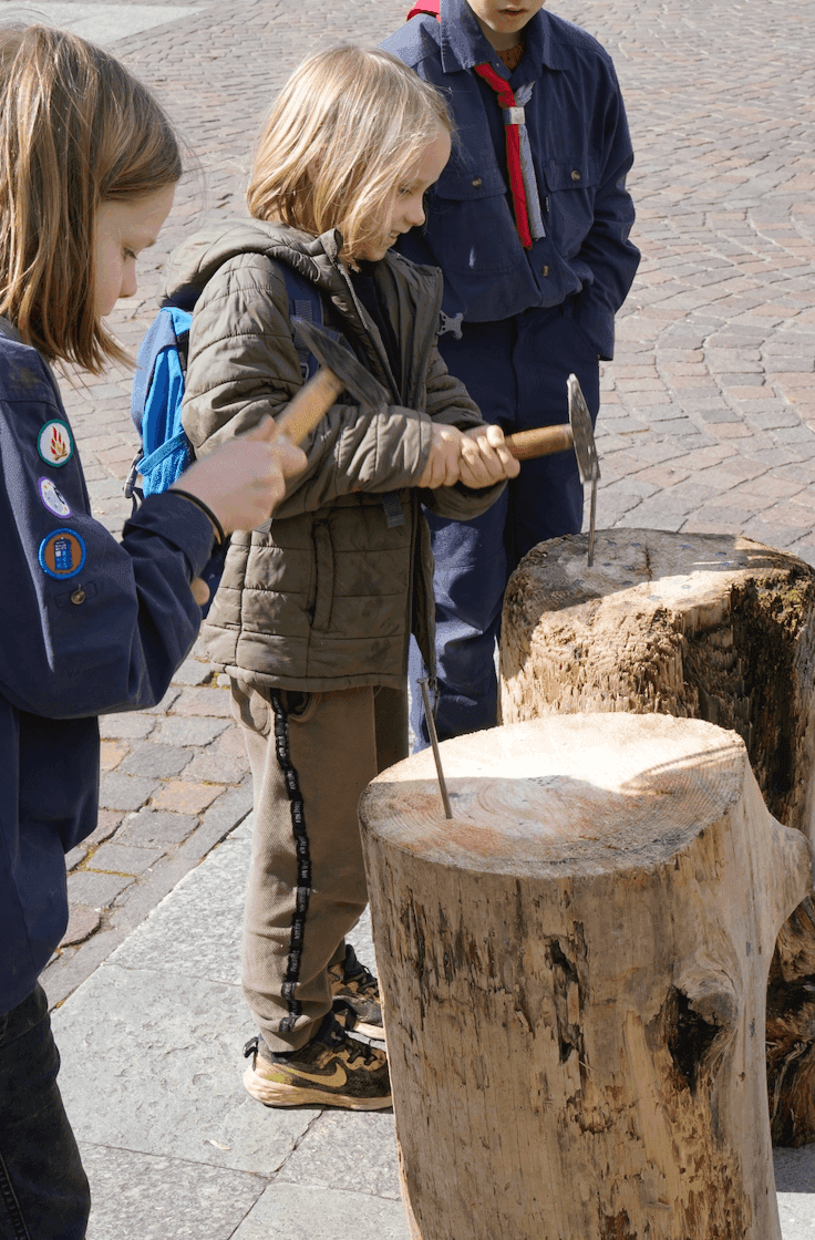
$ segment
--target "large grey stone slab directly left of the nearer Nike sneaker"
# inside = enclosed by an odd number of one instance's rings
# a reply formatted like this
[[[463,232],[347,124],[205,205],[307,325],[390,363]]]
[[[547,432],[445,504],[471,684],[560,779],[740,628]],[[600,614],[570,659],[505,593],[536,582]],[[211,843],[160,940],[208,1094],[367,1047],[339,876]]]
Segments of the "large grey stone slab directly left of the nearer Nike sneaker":
[[[53,1029],[81,1141],[270,1178],[320,1115],[272,1111],[243,1089],[253,1028],[237,986],[107,963]]]

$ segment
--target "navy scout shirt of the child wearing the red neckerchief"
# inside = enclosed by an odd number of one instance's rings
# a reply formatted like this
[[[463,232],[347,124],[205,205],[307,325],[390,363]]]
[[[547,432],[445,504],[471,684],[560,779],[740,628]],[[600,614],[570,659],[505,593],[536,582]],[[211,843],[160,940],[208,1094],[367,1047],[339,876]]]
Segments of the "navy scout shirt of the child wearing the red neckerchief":
[[[614,351],[614,314],[639,263],[628,239],[634,154],[614,66],[586,31],[541,10],[525,27],[514,73],[465,0],[442,0],[381,46],[442,89],[455,118],[453,155],[428,198],[427,224],[399,249],[444,273],[445,315],[509,319],[579,294],[574,319],[600,357]],[[473,72],[488,62],[514,89],[533,82],[526,125],[546,237],[523,249],[507,195],[506,139],[495,91]]]

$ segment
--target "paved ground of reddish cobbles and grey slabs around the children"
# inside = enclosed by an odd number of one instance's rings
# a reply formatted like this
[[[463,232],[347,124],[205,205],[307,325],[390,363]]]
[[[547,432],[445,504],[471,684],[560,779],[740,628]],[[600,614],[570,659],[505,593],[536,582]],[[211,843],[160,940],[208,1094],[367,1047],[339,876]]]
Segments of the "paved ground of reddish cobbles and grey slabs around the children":
[[[20,5],[0,0],[0,14]],[[403,0],[51,4],[163,95],[194,175],[167,250],[242,208],[275,88],[326,38],[373,43]],[[600,526],[741,532],[815,563],[815,14],[811,0],[552,0],[613,53],[638,162],[643,249],[605,367]],[[124,372],[73,378],[94,511],[112,529],[135,449]],[[268,1111],[243,1094],[237,986],[251,807],[227,694],[196,647],[166,699],[104,720],[94,836],[69,862],[72,923],[45,985],[94,1192],[92,1240],[352,1234],[406,1240],[392,1120]],[[241,825],[238,825],[241,823]],[[365,928],[357,946],[371,952]],[[815,1147],[777,1151],[784,1240],[815,1236]],[[454,1240],[454,1238],[453,1238]],[[574,1238],[579,1240],[579,1238]]]

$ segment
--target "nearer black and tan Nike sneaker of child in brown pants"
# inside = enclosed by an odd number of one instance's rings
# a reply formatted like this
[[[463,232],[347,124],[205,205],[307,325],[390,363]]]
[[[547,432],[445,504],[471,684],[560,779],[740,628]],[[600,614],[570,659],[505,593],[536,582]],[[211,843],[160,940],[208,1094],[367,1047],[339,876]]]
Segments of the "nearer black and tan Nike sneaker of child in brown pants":
[[[251,1059],[243,1084],[264,1106],[342,1106],[351,1111],[391,1106],[385,1052],[349,1038],[332,1012],[299,1050],[275,1054],[262,1038],[252,1038],[243,1054]]]

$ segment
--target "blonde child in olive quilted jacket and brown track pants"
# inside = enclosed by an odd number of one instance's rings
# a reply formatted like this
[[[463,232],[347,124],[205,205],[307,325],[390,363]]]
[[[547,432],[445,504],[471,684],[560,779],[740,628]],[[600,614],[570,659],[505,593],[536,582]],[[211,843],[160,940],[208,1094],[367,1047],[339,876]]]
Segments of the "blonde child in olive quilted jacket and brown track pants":
[[[294,73],[254,159],[251,219],[170,259],[195,301],[185,429],[206,453],[301,386],[284,268],[390,393],[335,404],[272,522],[232,541],[205,640],[232,681],[254,781],[243,987],[259,1037],[244,1081],[269,1106],[391,1102],[375,978],[345,935],[366,904],[357,801],[407,755],[411,631],[432,666],[421,503],[483,512],[517,472],[435,348],[440,280],[391,253],[450,154],[444,102],[393,57],[340,46]],[[195,300],[197,298],[197,300]]]

